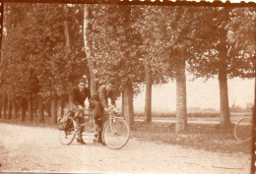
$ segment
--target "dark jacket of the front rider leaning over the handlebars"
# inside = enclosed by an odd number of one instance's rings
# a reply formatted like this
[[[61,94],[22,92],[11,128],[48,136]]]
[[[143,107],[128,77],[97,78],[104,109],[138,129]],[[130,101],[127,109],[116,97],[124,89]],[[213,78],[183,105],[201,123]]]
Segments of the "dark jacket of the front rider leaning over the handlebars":
[[[96,93],[92,97],[92,100],[99,101],[103,108],[108,107],[107,98],[111,99],[111,104],[115,105],[116,96],[114,92],[109,92],[106,90],[105,86],[101,86],[97,89]]]

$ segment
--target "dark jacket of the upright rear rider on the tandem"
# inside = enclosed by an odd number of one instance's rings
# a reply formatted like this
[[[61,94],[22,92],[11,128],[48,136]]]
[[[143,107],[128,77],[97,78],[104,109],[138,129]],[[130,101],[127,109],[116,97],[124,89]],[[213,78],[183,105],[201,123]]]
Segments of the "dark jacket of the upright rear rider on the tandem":
[[[82,105],[84,106],[84,102],[86,99],[91,98],[90,89],[85,88],[84,91],[80,91],[78,87],[74,88],[71,95],[71,102],[76,106]]]

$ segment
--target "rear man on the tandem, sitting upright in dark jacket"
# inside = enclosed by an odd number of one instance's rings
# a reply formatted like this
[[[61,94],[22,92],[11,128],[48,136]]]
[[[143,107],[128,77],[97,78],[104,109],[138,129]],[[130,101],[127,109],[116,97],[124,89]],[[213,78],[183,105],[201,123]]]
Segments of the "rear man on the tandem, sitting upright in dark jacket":
[[[78,87],[75,87],[72,91],[71,95],[71,108],[70,111],[73,113],[73,116],[76,121],[75,129],[79,129],[79,135],[77,138],[77,142],[81,144],[86,144],[82,139],[82,133],[84,131],[84,127],[80,127],[84,120],[84,108],[86,99],[91,98],[90,89],[87,87],[87,81],[82,79],[79,81]]]

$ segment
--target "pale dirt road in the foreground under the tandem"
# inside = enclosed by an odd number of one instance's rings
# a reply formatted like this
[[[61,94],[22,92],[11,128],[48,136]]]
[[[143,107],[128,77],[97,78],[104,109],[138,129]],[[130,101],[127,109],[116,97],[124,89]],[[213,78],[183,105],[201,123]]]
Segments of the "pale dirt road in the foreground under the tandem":
[[[250,155],[131,139],[125,147],[60,145],[58,130],[0,123],[0,172],[250,173]]]

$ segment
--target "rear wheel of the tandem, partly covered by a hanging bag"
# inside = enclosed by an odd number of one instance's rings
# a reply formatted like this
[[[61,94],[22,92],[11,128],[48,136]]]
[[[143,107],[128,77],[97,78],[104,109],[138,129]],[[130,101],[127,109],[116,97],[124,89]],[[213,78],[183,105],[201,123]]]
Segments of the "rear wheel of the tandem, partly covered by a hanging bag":
[[[59,131],[59,141],[62,145],[70,145],[75,139],[75,129],[73,122],[69,122],[67,129]]]

